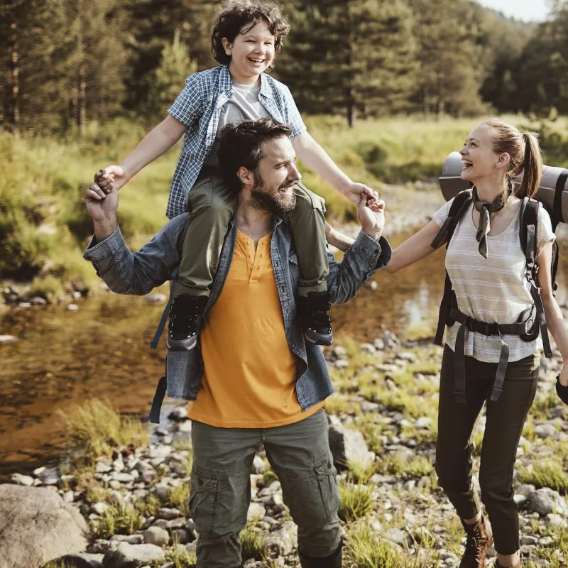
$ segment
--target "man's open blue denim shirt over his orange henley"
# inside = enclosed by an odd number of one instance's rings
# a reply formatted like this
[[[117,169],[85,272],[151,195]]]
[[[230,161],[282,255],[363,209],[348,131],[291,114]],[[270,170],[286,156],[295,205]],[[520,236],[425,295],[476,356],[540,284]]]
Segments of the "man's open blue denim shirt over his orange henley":
[[[126,247],[119,228],[107,239],[97,243],[93,237],[84,258],[91,261],[97,274],[119,294],[144,295],[172,278],[182,256],[183,236],[187,213],[178,215],[166,224],[153,239],[138,252]],[[226,275],[231,268],[236,242],[236,224],[231,222],[226,236],[221,261],[217,269],[205,312],[217,301]],[[368,282],[373,273],[391,260],[391,246],[381,237],[376,242],[360,232],[341,262],[329,253],[327,288],[333,303],[349,302]],[[276,286],[284,316],[286,339],[290,351],[297,357],[296,395],[302,410],[320,403],[333,393],[332,381],[319,346],[305,342],[300,316],[294,300],[299,276],[297,255],[288,227],[275,219],[271,238],[271,255]],[[262,338],[251,338],[262,341]],[[198,343],[192,351],[169,351],[166,358],[168,395],[182,400],[195,400],[203,375],[203,359]]]

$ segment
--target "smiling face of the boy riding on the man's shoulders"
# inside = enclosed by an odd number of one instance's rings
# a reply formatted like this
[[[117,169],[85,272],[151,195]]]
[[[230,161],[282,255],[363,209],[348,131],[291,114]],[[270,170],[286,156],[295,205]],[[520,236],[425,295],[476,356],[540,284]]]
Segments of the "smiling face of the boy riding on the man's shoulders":
[[[274,35],[263,21],[246,24],[230,42],[223,38],[225,53],[231,56],[229,71],[238,83],[252,84],[274,60]]]

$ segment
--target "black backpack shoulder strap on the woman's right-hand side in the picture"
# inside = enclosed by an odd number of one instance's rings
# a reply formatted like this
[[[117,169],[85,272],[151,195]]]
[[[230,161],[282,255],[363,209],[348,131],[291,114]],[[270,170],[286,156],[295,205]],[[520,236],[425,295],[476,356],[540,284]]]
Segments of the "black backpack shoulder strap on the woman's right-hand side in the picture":
[[[538,212],[541,204],[537,200],[525,197],[520,209],[520,227],[519,239],[520,246],[525,253],[525,277],[530,284],[530,295],[532,301],[535,302],[537,312],[537,322],[540,327],[540,335],[542,337],[542,347],[545,356],[552,357],[550,349],[550,341],[548,339],[548,329],[546,325],[545,308],[542,305],[540,297],[540,285],[538,283],[538,264],[537,258],[537,230],[538,230]]]

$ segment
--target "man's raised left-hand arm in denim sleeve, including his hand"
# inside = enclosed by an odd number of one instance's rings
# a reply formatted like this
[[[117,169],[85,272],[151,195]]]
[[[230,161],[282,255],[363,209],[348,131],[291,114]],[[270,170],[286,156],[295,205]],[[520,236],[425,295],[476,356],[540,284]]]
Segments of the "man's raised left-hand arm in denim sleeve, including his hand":
[[[94,237],[84,258],[93,263],[110,290],[119,294],[144,295],[172,278],[180,263],[180,238],[187,214],[175,217],[140,251],[132,253],[124,243],[116,219],[118,190],[104,195],[96,184],[91,184],[85,192],[85,204],[93,220]]]

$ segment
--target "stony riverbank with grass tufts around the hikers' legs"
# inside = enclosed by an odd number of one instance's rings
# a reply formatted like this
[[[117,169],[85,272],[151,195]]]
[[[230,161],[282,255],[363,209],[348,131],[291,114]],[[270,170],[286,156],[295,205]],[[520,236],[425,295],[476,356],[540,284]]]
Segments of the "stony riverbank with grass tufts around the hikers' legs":
[[[463,530],[437,487],[433,469],[442,350],[432,346],[427,335],[399,340],[385,332],[368,343],[344,339],[325,350],[337,391],[327,413],[342,498],[345,567],[459,564]],[[568,413],[554,389],[559,367],[558,357],[542,360],[515,471],[521,553],[533,567],[560,567],[568,560]],[[482,415],[476,426],[475,471],[483,432]],[[12,532],[27,537],[15,546],[3,539],[0,526],[0,567],[38,566],[32,546],[50,550],[44,560],[63,556],[70,567],[192,566],[198,535],[187,503],[190,435],[191,422],[180,406],[153,429],[150,444],[115,447],[90,469],[74,469],[67,458],[56,468],[15,474],[14,485],[0,486],[0,519],[10,513]],[[241,535],[245,567],[296,567],[295,525],[263,453],[254,460],[251,484],[249,524]],[[58,520],[59,549],[57,542],[42,548],[45,535],[34,533],[21,511],[2,510],[2,503],[13,502],[11,491],[20,492],[20,503],[44,500],[45,493],[58,500],[67,511],[67,520]],[[35,495],[38,491],[40,496]],[[88,527],[87,540],[73,515]],[[38,530],[39,525],[34,526]],[[67,552],[74,554],[65,556]],[[2,558],[13,563],[2,564]]]

